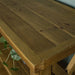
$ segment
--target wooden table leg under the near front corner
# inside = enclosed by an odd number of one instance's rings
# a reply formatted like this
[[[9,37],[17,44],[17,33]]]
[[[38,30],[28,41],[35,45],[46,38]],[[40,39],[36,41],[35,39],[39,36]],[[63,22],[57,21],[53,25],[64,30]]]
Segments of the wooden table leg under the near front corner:
[[[45,70],[42,70],[38,73],[33,72],[32,70],[30,71],[30,75],[51,75],[51,66],[46,68]]]

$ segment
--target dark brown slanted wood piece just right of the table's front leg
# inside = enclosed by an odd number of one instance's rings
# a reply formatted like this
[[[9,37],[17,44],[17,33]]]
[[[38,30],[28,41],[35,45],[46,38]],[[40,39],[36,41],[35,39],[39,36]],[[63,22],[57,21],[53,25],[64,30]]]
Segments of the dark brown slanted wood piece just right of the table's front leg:
[[[52,66],[52,72],[55,74],[55,75],[68,75],[65,70],[60,67],[58,64],[54,64]]]

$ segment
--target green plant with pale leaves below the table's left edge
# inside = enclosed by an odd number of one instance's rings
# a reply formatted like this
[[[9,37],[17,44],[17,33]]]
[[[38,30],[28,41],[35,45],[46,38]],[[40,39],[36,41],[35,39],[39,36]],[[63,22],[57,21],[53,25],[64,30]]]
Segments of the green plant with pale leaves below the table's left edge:
[[[4,37],[0,38],[0,43],[4,43],[4,49],[2,50],[8,50],[9,48],[11,49],[6,60],[3,62],[3,64],[8,67],[7,61],[9,57],[11,56],[11,58],[13,59],[13,67],[11,68],[11,70],[17,71],[18,68],[16,68],[15,66],[15,61],[19,61],[21,57],[15,52],[12,46],[8,45],[8,42],[4,39]],[[2,54],[1,50],[0,50],[0,54]]]

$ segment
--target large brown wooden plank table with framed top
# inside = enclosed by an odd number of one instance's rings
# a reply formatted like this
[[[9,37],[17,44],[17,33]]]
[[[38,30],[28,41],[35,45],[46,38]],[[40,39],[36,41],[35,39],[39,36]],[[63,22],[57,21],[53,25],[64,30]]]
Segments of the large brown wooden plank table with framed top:
[[[75,52],[75,9],[54,0],[0,0],[0,33],[30,75],[50,75],[52,64]]]

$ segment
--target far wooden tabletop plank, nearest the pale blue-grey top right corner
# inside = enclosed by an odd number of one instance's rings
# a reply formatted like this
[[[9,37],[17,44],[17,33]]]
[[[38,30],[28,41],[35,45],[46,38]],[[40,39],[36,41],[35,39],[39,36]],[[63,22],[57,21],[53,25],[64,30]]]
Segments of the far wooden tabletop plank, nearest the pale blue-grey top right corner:
[[[4,3],[4,0],[2,0],[2,1]],[[8,0],[4,4],[6,4],[7,2],[8,2]],[[47,6],[48,4],[43,5],[42,3],[35,1],[35,0],[32,0],[32,1],[22,0],[21,2],[17,1],[17,0],[14,2],[14,0],[12,0],[12,2],[13,2],[12,4],[15,4],[15,6],[17,6],[18,5],[17,3],[19,3],[19,5],[27,7],[29,10],[31,10],[31,12],[33,12],[33,13],[37,14],[38,16],[42,17],[43,19],[49,21],[51,24],[54,24],[58,28],[63,28],[63,30],[66,33],[68,33],[72,37],[75,37],[75,32],[74,32],[74,27],[73,27],[73,26],[75,26],[74,25],[74,20],[75,20],[74,13],[75,12],[71,12],[70,10],[66,10],[66,9],[62,8],[62,6],[60,6],[60,9],[64,9],[65,14],[62,13],[63,11],[60,13],[59,11],[56,10],[56,9],[60,10],[59,7],[55,8],[55,6],[57,7],[58,5],[56,3],[53,3],[52,1],[51,1],[52,5],[53,5],[52,7],[54,7],[54,8],[48,7]],[[9,2],[9,3],[11,3],[11,2]],[[12,4],[10,4],[10,5],[12,5]],[[69,12],[68,13],[69,17],[67,15],[67,12]],[[71,16],[70,16],[70,14],[71,14]],[[69,28],[70,26],[72,26],[72,27]]]

